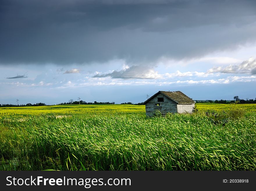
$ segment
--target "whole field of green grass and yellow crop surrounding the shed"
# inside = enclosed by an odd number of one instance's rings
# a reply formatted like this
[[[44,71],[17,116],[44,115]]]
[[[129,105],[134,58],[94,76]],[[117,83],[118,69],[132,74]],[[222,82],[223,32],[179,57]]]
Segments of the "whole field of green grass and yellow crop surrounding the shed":
[[[196,106],[0,108],[0,170],[256,170],[256,104]]]

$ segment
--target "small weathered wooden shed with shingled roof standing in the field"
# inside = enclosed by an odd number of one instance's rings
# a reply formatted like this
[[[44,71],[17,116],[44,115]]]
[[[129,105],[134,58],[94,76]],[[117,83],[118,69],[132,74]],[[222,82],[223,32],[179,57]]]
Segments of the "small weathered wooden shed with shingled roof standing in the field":
[[[181,91],[159,91],[146,100],[143,105],[146,105],[146,115],[152,117],[158,111],[163,116],[166,113],[192,113],[195,101]]]

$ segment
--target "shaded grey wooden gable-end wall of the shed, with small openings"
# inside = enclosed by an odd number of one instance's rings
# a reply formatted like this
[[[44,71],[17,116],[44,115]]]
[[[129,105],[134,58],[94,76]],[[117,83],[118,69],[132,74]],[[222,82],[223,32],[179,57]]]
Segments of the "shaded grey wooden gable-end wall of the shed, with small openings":
[[[158,102],[157,97],[163,97],[163,102]],[[155,105],[156,103],[159,103],[160,106]],[[166,113],[177,113],[177,103],[159,93],[146,103],[146,115],[152,117],[156,110],[159,110],[162,115]]]

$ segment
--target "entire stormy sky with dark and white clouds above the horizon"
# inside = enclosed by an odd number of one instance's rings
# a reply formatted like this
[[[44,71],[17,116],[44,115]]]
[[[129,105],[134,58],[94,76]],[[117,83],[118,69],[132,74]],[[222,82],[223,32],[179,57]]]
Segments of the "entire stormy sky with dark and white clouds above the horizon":
[[[256,98],[256,1],[8,0],[0,104]]]

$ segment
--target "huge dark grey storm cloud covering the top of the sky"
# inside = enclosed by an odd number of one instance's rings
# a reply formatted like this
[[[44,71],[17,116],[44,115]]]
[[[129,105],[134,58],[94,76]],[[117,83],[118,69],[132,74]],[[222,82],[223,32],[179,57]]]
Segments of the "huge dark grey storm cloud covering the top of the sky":
[[[200,57],[255,42],[255,7],[256,1],[1,1],[0,64]]]

